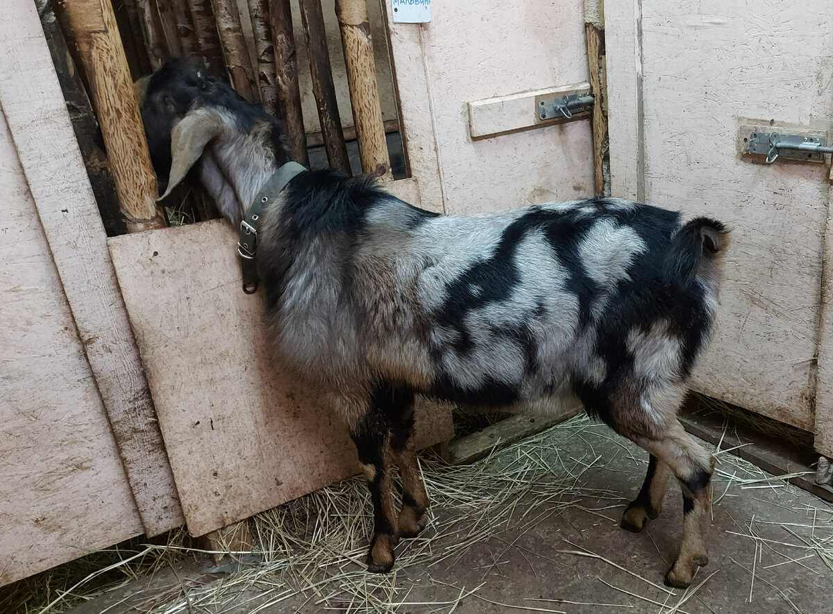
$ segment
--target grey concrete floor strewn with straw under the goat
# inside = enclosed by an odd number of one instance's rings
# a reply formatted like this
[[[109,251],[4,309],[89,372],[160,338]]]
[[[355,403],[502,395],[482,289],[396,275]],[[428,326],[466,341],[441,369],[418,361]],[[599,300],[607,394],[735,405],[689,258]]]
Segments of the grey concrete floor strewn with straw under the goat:
[[[708,538],[711,562],[700,570],[688,591],[666,589],[662,578],[676,556],[681,532],[679,489],[669,490],[661,517],[646,531],[638,535],[624,532],[618,527],[619,518],[626,500],[641,486],[646,454],[599,425],[556,427],[546,437],[546,444],[559,450],[563,466],[553,467],[551,476],[536,476],[535,481],[563,479],[564,472],[569,472],[584,492],[596,489],[598,496],[570,497],[570,505],[553,505],[551,510],[536,502],[536,495],[521,497],[515,502],[511,522],[491,527],[486,537],[458,548],[453,557],[433,564],[417,557],[407,567],[397,567],[395,583],[401,590],[389,601],[402,605],[387,611],[833,612],[833,571],[828,567],[833,564],[833,507],[826,502],[785,482],[772,481],[768,474],[726,453],[719,455],[721,462],[713,482],[714,522]],[[492,468],[499,469],[500,463],[506,462],[501,458],[488,462],[498,463]],[[600,460],[594,463],[596,459]],[[585,469],[601,466],[601,459],[606,459],[606,467]],[[757,482],[748,482],[751,480]],[[473,522],[471,512],[435,508],[432,513],[432,526],[446,527],[432,542],[433,552],[465,539]],[[426,537],[432,531],[429,527]],[[403,542],[397,557],[407,561],[408,549],[415,546]],[[564,552],[582,550],[589,556]],[[820,552],[828,557],[827,564]],[[220,586],[224,580],[215,576],[205,582]],[[205,582],[201,582],[203,587]],[[147,592],[154,590],[153,583],[146,587]],[[174,597],[179,596],[170,595],[170,603]],[[273,600],[274,593],[249,587],[232,592],[231,597],[227,593],[216,606],[178,611],[375,611],[362,607],[355,589],[342,592],[332,584],[326,592],[310,591],[270,604]],[[104,607],[104,602],[93,602],[76,612],[92,614],[103,612]],[[174,611],[159,602],[157,607],[142,611]]]

